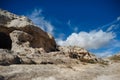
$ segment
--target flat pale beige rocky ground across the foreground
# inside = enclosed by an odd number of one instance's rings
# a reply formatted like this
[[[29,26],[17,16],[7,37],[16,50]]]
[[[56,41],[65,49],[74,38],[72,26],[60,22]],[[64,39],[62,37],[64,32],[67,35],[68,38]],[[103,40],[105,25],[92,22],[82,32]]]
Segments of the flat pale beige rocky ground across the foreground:
[[[120,62],[0,66],[0,80],[119,80]]]

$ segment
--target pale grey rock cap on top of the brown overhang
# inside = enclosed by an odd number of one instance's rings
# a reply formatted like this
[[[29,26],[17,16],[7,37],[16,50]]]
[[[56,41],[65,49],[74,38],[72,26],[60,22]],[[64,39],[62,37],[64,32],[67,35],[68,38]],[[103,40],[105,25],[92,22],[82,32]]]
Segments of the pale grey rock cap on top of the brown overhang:
[[[6,10],[0,9],[0,23],[9,27],[22,27],[26,25],[33,25],[32,21],[25,16],[18,16]]]

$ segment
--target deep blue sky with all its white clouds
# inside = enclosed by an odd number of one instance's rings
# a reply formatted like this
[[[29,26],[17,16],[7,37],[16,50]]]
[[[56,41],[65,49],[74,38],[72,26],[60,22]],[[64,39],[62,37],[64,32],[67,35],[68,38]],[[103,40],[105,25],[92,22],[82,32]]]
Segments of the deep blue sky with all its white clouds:
[[[60,45],[120,52],[120,0],[0,0],[0,8],[29,17]]]

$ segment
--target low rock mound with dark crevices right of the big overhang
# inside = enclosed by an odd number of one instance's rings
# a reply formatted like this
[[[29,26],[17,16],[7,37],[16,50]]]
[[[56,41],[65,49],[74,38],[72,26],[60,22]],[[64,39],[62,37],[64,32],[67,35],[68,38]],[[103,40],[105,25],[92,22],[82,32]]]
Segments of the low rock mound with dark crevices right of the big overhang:
[[[68,54],[70,58],[78,59],[83,62],[96,63],[98,58],[95,55],[90,54],[86,49],[77,46],[64,46],[58,48],[60,52]]]

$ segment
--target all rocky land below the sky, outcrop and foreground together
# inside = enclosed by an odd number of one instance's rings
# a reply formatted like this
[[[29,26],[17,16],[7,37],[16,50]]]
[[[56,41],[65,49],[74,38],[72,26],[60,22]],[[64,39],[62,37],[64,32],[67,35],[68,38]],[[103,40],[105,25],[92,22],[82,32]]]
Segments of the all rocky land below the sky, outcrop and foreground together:
[[[0,80],[120,80],[120,54],[97,58],[0,9]]]

